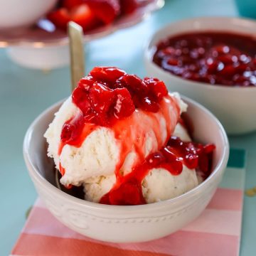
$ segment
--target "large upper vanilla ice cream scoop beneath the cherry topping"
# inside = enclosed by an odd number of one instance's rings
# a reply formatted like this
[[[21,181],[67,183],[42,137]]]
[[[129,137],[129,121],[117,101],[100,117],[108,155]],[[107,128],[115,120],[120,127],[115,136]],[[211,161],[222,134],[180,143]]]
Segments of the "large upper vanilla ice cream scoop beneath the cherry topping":
[[[58,154],[63,124],[80,112],[69,97],[46,131],[48,156],[54,159],[57,169],[60,165],[65,169],[60,179],[65,186],[80,186],[88,178],[110,176],[117,168],[128,174],[140,158],[164,145],[184,110],[186,105],[178,94],[170,95],[164,98],[159,112],[148,115],[136,110],[128,122],[120,120],[112,128],[94,127],[80,147],[65,144]]]

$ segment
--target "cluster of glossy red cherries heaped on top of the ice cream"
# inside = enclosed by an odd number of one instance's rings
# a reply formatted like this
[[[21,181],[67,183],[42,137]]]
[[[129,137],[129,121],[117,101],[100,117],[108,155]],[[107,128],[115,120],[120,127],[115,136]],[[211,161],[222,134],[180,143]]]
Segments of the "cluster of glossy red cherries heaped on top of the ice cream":
[[[109,126],[112,117],[129,117],[135,107],[158,112],[159,102],[167,94],[164,82],[156,78],[142,80],[119,68],[95,67],[78,82],[72,100],[81,110],[84,122]]]

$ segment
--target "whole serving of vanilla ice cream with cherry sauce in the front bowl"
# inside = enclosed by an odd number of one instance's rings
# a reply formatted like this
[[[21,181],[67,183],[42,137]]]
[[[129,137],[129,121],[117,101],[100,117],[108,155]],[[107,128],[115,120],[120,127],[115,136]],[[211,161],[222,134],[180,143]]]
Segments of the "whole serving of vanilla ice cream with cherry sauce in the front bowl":
[[[97,67],[78,82],[45,137],[67,188],[113,205],[154,203],[198,185],[212,146],[191,142],[187,105],[156,78]]]

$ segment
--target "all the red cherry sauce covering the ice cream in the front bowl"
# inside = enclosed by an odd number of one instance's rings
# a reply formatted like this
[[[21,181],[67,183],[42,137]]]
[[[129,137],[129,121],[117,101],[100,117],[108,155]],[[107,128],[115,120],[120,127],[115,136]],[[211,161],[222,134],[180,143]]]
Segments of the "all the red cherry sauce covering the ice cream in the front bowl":
[[[208,176],[214,146],[181,142],[171,137],[180,109],[176,99],[168,95],[164,82],[156,78],[141,80],[118,68],[99,67],[80,80],[72,100],[80,112],[63,125],[59,154],[65,144],[80,147],[86,137],[99,127],[109,127],[119,145],[119,162],[115,169],[117,181],[100,203],[146,203],[142,195],[142,181],[152,168],[162,167],[178,175],[182,164],[186,164],[191,169],[200,168]],[[159,119],[164,119],[167,124],[164,140]],[[145,156],[145,134],[151,131],[157,143],[149,156]],[[137,159],[132,171],[124,175],[122,165],[131,149],[134,149]],[[60,173],[65,174],[61,165]]]

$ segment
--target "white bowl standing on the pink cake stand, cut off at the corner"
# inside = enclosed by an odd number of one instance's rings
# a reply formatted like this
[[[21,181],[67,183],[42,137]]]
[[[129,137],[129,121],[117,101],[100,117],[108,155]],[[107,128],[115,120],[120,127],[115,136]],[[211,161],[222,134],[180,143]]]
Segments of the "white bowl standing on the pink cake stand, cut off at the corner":
[[[58,0],[0,0],[0,29],[31,26]]]

